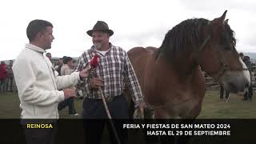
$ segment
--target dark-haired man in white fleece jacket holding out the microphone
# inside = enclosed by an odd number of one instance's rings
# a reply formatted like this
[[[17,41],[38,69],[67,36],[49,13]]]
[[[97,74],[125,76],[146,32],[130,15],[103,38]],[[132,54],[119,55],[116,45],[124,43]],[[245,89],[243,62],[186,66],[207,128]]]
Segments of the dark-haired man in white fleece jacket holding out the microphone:
[[[22,126],[28,144],[52,144],[58,119],[58,102],[75,97],[75,90],[64,89],[75,85],[89,75],[89,68],[60,77],[44,52],[54,40],[53,25],[44,20],[34,20],[26,29],[30,43],[18,54],[13,66],[22,109]],[[27,122],[50,122],[52,129],[27,129]]]

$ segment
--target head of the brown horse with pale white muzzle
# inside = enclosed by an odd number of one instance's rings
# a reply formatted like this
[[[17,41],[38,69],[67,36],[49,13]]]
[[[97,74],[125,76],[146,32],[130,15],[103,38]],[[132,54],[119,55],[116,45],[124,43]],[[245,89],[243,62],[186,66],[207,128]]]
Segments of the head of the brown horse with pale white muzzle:
[[[235,49],[234,31],[230,29],[226,11],[209,21],[202,30],[204,41],[198,50],[198,64],[217,78],[225,90],[243,92],[250,84],[250,73]]]

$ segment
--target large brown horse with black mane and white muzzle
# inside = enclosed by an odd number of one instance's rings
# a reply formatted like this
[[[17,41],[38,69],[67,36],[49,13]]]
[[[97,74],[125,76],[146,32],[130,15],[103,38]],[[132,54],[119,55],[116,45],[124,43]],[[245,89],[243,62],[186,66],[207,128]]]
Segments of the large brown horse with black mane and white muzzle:
[[[196,118],[206,93],[202,70],[233,93],[249,85],[249,71],[238,56],[234,31],[225,17],[226,11],[212,21],[188,19],[168,31],[160,48],[128,51],[154,118]]]

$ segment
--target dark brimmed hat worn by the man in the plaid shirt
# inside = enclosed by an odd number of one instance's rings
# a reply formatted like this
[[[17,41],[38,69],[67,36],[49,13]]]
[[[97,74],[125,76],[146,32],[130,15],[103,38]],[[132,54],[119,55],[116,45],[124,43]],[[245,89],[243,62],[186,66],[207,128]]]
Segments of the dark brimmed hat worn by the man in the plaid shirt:
[[[106,22],[103,21],[98,21],[95,25],[93,30],[88,30],[86,33],[90,36],[92,36],[94,31],[103,31],[106,32],[108,34],[113,35],[114,31],[109,29],[109,26],[107,26]]]

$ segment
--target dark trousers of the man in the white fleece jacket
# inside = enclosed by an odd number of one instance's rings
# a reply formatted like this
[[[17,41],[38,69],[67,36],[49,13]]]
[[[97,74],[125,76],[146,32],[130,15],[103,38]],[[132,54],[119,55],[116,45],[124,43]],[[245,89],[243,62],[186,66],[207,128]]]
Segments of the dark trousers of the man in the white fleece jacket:
[[[26,144],[55,144],[57,124],[53,123],[52,126],[52,129],[27,129],[24,125]]]

